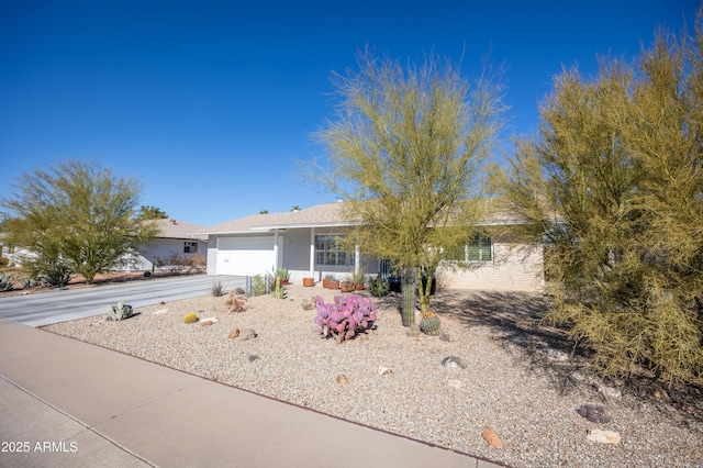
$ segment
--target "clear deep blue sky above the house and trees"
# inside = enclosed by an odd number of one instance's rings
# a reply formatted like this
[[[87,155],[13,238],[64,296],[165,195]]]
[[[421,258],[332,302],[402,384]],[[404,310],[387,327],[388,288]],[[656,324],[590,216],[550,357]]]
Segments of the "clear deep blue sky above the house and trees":
[[[532,134],[562,66],[626,59],[698,1],[0,0],[0,194],[59,159],[143,185],[142,204],[205,226],[333,201],[297,174],[322,156],[333,70],[367,44],[401,62],[504,65],[512,134]]]

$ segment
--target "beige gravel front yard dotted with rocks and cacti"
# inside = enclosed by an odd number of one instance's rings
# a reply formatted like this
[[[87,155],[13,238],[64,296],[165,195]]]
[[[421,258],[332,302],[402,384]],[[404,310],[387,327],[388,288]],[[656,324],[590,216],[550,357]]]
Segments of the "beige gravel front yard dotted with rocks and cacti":
[[[558,330],[536,323],[537,296],[439,291],[440,337],[409,334],[398,296],[373,298],[376,330],[338,344],[303,305],[339,292],[286,290],[250,298],[241,313],[227,312],[226,296],[203,296],[44,330],[513,467],[703,466],[700,394],[591,377]],[[185,324],[189,312],[200,322]],[[209,317],[217,321],[203,326]],[[231,338],[234,328],[257,336]],[[466,368],[443,365],[450,356]],[[600,422],[581,415],[598,406]],[[502,447],[483,438],[487,428]],[[591,441],[600,431],[620,443]]]

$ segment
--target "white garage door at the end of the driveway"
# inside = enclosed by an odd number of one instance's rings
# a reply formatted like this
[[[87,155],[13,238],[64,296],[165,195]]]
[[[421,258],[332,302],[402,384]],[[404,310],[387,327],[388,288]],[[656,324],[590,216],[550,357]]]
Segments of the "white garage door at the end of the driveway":
[[[282,245],[282,236],[278,243]],[[219,238],[217,275],[265,275],[272,268],[274,236]]]

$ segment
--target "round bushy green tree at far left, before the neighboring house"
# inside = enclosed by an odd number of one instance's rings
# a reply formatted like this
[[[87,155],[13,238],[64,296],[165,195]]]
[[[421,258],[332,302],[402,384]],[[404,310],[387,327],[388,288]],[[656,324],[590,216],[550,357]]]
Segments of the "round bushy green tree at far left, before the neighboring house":
[[[22,175],[13,189],[1,201],[7,234],[31,253],[23,265],[49,282],[65,283],[72,274],[92,282],[126,265],[155,234],[135,216],[138,182],[98,163],[59,161]]]

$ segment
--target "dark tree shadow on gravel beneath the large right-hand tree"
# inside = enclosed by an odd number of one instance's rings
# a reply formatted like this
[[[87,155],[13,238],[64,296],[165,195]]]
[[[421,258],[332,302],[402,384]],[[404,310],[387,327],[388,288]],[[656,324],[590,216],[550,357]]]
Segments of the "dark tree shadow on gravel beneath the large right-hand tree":
[[[491,328],[504,349],[517,348],[527,370],[548,377],[560,394],[578,391],[604,401],[609,397],[601,390],[620,390],[661,411],[674,410],[684,419],[703,421],[703,388],[699,386],[667,387],[644,369],[625,378],[598,377],[591,365],[592,350],[574,343],[565,328],[542,321],[549,308],[545,294],[444,290],[433,297],[432,308],[439,316],[455,317],[467,327]]]

